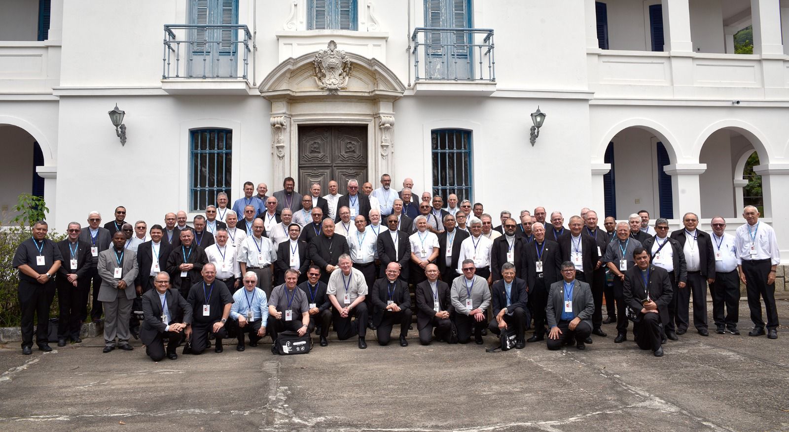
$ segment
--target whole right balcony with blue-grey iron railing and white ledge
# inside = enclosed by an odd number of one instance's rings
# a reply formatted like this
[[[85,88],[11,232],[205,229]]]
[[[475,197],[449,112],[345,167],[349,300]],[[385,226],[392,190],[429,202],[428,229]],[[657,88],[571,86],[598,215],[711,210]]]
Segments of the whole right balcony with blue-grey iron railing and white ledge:
[[[414,94],[490,95],[495,44],[490,28],[424,28],[411,35]]]

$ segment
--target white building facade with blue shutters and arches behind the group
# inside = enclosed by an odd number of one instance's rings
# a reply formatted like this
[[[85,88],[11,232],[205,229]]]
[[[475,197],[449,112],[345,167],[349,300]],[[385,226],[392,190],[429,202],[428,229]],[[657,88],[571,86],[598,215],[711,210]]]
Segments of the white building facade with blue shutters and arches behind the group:
[[[743,222],[789,250],[785,0],[7,0],[0,206],[150,226],[219,191],[358,178],[486,212]],[[753,54],[733,54],[753,26]],[[441,30],[441,29],[444,30]],[[336,45],[331,50],[330,43]],[[332,46],[333,47],[333,46]],[[316,58],[317,56],[317,58]],[[125,145],[107,111],[125,111]],[[529,117],[547,114],[529,143]],[[789,253],[784,251],[784,259]]]

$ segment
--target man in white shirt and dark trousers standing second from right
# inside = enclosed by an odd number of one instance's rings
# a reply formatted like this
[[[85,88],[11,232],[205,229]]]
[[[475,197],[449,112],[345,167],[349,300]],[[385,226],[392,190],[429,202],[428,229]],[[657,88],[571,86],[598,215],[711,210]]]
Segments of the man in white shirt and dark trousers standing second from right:
[[[739,334],[737,322],[740,291],[735,236],[726,233],[726,220],[720,216],[712,218],[711,225],[715,281],[709,284],[709,292],[712,294],[712,320],[715,322],[715,333]]]

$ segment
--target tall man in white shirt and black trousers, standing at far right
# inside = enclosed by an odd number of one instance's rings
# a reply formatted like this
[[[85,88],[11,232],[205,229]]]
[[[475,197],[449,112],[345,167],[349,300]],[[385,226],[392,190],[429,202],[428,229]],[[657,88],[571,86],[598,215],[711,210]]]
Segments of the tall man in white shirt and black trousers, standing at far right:
[[[767,337],[778,339],[778,311],[776,311],[776,268],[781,262],[776,232],[772,226],[759,222],[759,210],[753,206],[742,209],[746,223],[737,229],[737,269],[740,281],[746,285],[750,319],[753,330],[748,336],[765,334],[759,297],[765,300]]]

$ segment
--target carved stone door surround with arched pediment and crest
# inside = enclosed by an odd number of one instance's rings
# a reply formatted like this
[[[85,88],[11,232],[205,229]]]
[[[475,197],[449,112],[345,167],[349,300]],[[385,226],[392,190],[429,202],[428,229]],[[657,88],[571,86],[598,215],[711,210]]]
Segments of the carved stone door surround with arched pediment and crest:
[[[299,125],[366,125],[368,178],[394,170],[394,101],[406,88],[380,61],[335,47],[282,61],[258,88],[271,102],[274,184],[296,177]]]

